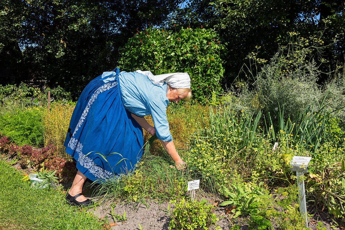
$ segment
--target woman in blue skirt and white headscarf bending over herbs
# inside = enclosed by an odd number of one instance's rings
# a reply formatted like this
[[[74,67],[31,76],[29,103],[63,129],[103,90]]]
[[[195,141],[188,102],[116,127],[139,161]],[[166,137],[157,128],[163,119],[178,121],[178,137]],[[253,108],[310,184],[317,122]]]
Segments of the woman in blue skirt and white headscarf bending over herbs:
[[[66,200],[79,206],[92,204],[81,194],[86,178],[102,182],[130,171],[141,158],[142,128],[156,134],[176,168],[183,168],[185,162],[172,141],[166,108],[169,102],[189,100],[190,96],[187,73],[154,76],[141,70],[119,73],[116,68],[93,79],[79,97],[64,144],[78,169]],[[154,127],[147,123],[146,115],[151,115]]]

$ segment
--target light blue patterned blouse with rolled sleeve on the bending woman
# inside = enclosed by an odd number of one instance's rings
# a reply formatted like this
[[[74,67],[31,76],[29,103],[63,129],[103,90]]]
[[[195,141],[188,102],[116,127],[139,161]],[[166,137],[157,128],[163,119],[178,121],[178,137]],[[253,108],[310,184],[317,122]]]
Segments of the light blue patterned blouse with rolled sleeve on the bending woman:
[[[159,140],[172,141],[167,121],[167,84],[162,87],[153,84],[150,79],[137,72],[119,73],[121,99],[127,111],[143,117],[151,115]]]

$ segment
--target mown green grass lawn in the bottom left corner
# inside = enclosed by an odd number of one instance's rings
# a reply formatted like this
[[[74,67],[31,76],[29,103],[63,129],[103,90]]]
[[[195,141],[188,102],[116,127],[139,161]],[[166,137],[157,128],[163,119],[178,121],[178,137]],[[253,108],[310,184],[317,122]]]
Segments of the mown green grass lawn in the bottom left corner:
[[[20,172],[0,160],[0,229],[100,229],[87,209],[65,202],[60,190],[34,190]]]

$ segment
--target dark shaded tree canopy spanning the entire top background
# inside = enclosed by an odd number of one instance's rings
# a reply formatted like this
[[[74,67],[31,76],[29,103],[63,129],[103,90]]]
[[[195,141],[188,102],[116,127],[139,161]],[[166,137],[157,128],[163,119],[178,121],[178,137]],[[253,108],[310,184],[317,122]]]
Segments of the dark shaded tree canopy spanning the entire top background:
[[[324,73],[344,63],[345,0],[191,0],[179,9],[181,2],[0,0],[1,82],[60,85],[77,96],[90,79],[117,67],[119,47],[149,27],[215,30],[225,45],[223,86],[245,77],[240,70],[256,47],[268,60],[291,32],[324,42]]]

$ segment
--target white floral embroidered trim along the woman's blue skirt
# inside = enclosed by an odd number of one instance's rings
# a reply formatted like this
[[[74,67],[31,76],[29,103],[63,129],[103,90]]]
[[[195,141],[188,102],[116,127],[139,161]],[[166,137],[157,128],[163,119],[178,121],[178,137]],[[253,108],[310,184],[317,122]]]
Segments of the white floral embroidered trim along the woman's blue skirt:
[[[95,102],[98,95],[100,93],[103,93],[103,92],[111,89],[114,86],[117,86],[117,85],[118,85],[118,82],[110,82],[110,83],[104,84],[101,87],[99,87],[98,89],[96,89],[96,91],[91,96],[88,104],[86,105],[72,136],[74,136],[76,134],[78,129],[81,127],[81,125],[85,121],[85,118],[86,118],[87,114],[89,113],[89,109],[90,109],[91,105],[93,104],[93,102]],[[76,146],[77,146],[77,148],[76,148]],[[120,174],[112,173],[112,172],[109,172],[109,171],[103,169],[102,167],[96,165],[95,162],[93,162],[93,160],[90,157],[83,154],[82,153],[83,145],[81,143],[79,143],[78,139],[72,137],[71,140],[68,142],[68,147],[70,147],[72,150],[75,150],[78,153],[79,164],[81,166],[85,167],[86,169],[88,169],[88,171],[92,175],[94,175],[96,178],[111,179],[111,178],[114,178],[114,176],[116,178],[119,178]]]

